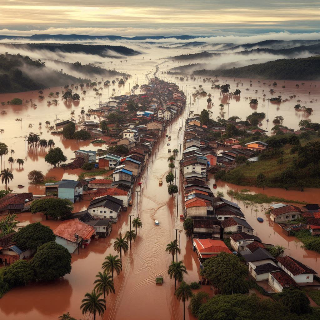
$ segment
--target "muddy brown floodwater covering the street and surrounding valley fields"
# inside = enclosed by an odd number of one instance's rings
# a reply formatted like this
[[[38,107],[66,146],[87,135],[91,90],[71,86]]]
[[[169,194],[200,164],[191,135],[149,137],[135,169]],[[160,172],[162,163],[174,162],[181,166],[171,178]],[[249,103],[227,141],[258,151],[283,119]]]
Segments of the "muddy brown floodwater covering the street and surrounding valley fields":
[[[141,63],[141,62],[140,62]],[[141,63],[142,64],[142,63]],[[141,66],[140,64],[140,66]],[[153,65],[154,66],[154,63]],[[132,70],[136,68],[133,63],[131,65]],[[149,71],[151,63],[148,62],[146,68],[142,68],[139,74],[139,80],[143,79],[142,72]],[[128,70],[131,71],[131,70]],[[174,78],[172,78],[173,80]],[[142,81],[141,80],[141,81]],[[235,90],[236,86],[231,82],[233,79],[228,79],[228,83],[231,84],[231,89]],[[133,80],[131,80],[131,86]],[[261,84],[257,84],[257,80],[253,81],[253,86],[249,86],[249,79],[242,80],[244,82],[243,87],[239,87],[242,91],[239,101],[231,100],[229,108],[229,116],[239,115],[242,118],[253,112],[249,106],[249,101],[245,101],[244,97],[255,98],[257,95],[251,91],[257,89],[258,95],[262,97]],[[144,83],[145,81],[142,81]],[[220,81],[220,84],[225,82],[225,79]],[[237,81],[235,81],[237,82]],[[263,81],[261,80],[261,83]],[[301,86],[298,89],[297,97],[290,102],[285,102],[280,106],[269,104],[268,118],[272,122],[274,115],[284,115],[284,125],[297,129],[297,123],[301,118],[301,113],[295,113],[293,106],[297,103],[297,99],[306,101],[301,102],[308,107],[311,104],[308,102],[311,99],[318,99],[319,92],[317,90],[306,89],[310,84],[305,82],[305,89]],[[203,84],[202,82],[184,82],[181,83],[188,90],[188,99],[190,93],[194,90],[193,86]],[[278,81],[278,88],[281,87],[281,82]],[[293,95],[293,91],[296,91],[295,82],[290,85],[286,82],[286,89],[276,89],[285,92],[286,95]],[[121,88],[121,93],[128,91],[129,83],[125,88]],[[204,89],[212,94],[211,97],[214,101],[214,106],[211,107],[213,111],[212,117],[219,115],[218,105],[221,103],[220,95],[217,91],[211,90],[210,84],[203,84]],[[249,87],[250,92],[245,91],[245,88]],[[262,86],[261,86],[262,87]],[[270,87],[265,85],[265,91]],[[112,88],[112,87],[110,87]],[[116,90],[118,90],[116,88]],[[122,91],[123,90],[123,91]],[[286,90],[286,91],[285,91]],[[97,99],[95,99],[93,92],[87,90],[87,95],[84,101],[80,101],[79,106],[66,106],[60,101],[58,106],[46,105],[46,100],[49,92],[60,91],[61,88],[51,88],[50,90],[44,90],[44,101],[37,99],[37,92],[23,92],[15,94],[3,94],[0,95],[0,102],[11,100],[14,97],[20,97],[24,99],[22,106],[4,106],[0,107],[1,111],[6,111],[6,114],[0,115],[0,129],[4,129],[4,133],[0,133],[0,141],[5,142],[9,150],[14,149],[14,158],[25,157],[25,141],[23,135],[28,134],[30,131],[43,132],[42,137],[45,139],[53,139],[56,146],[60,147],[65,155],[68,157],[68,162],[74,157],[74,151],[78,148],[96,150],[98,147],[91,145],[90,141],[77,142],[74,140],[64,140],[61,136],[52,136],[49,129],[45,126],[46,120],[51,121],[51,125],[54,124],[56,114],[60,121],[70,118],[71,110],[75,110],[76,120],[80,114],[81,107],[95,108]],[[79,90],[80,91],[80,90]],[[103,94],[107,96],[107,91],[104,89]],[[292,92],[291,92],[292,91]],[[311,91],[310,96],[307,91]],[[275,96],[277,93],[275,94]],[[267,93],[268,97],[268,93]],[[33,108],[30,103],[26,103],[25,100],[33,99],[33,103],[37,104],[37,108]],[[207,109],[206,98],[199,100],[199,110],[202,108]],[[107,99],[102,99],[107,100]],[[189,100],[188,100],[189,101]],[[308,103],[307,103],[308,102]],[[197,103],[191,106],[195,112],[197,111]],[[315,112],[310,117],[313,121],[316,121],[317,108],[316,103],[312,104],[312,108]],[[227,106],[224,111],[227,112]],[[257,107],[258,112],[266,112],[267,101],[262,102],[259,100]],[[267,112],[266,112],[267,113]],[[23,118],[21,122],[15,122],[15,118]],[[182,123],[181,115],[180,119],[172,124],[168,128],[168,134],[172,136],[171,148],[179,148],[178,138],[178,124]],[[92,119],[92,118],[91,118]],[[59,121],[59,120],[58,120]],[[39,128],[38,123],[42,122],[42,128]],[[272,126],[271,122],[268,124],[268,128]],[[32,128],[29,128],[29,124],[32,124]],[[266,128],[267,123],[263,122],[263,128]],[[180,135],[179,135],[180,137]],[[165,252],[166,244],[175,239],[175,231],[173,229],[182,229],[182,221],[176,218],[176,200],[168,195],[167,186],[164,183],[162,187],[158,186],[158,180],[163,179],[168,172],[168,152],[166,141],[162,141],[159,145],[159,150],[154,149],[155,156],[150,159],[148,164],[148,181],[146,181],[146,173],[144,174],[144,182],[142,185],[141,195],[138,193],[139,203],[138,214],[142,220],[143,227],[138,230],[138,237],[134,243],[132,243],[132,250],[123,255],[124,271],[115,278],[116,294],[109,295],[107,297],[107,311],[104,315],[104,319],[127,319],[129,316],[132,319],[181,319],[183,314],[183,304],[179,303],[174,296],[174,281],[167,275],[167,268],[171,262],[171,255]],[[43,194],[43,186],[30,186],[28,185],[27,174],[29,171],[37,168],[42,170],[48,177],[70,178],[76,179],[77,171],[64,171],[61,168],[52,168],[50,165],[44,162],[45,150],[27,150],[27,160],[23,168],[19,169],[16,164],[12,165],[12,171],[14,174],[14,180],[10,183],[10,188],[16,191],[30,191],[34,194]],[[9,155],[6,156],[6,164]],[[176,161],[176,166],[178,165]],[[178,181],[179,182],[179,181]],[[213,180],[209,181],[209,185],[212,186]],[[23,189],[17,189],[17,185],[22,184],[25,186]],[[177,183],[178,184],[178,183]],[[238,186],[227,185],[218,183],[218,189],[223,191],[226,195],[228,188],[239,188]],[[248,187],[246,187],[248,188]],[[241,188],[239,188],[241,189]],[[262,192],[259,188],[248,188],[254,192]],[[315,196],[318,195],[318,190],[306,189],[305,192],[298,191],[284,191],[276,189],[266,189],[264,192],[268,195],[283,196],[288,199],[302,199],[306,202],[314,203]],[[262,192],[263,193],[263,192]],[[282,193],[285,193],[282,194]],[[135,194],[136,195],[136,194]],[[226,198],[228,196],[226,195]],[[318,198],[318,196],[316,197]],[[75,205],[75,211],[83,210],[87,207],[88,203],[82,201]],[[243,206],[240,204],[243,208]],[[258,205],[259,206],[259,205]],[[261,207],[266,208],[268,205],[263,204]],[[178,216],[180,216],[182,208],[181,197],[179,197],[179,210]],[[259,207],[259,209],[261,209]],[[136,200],[134,199],[134,205],[128,212],[123,212],[121,218],[117,224],[113,225],[113,230],[110,236],[106,239],[99,239],[98,241],[92,241],[86,249],[80,249],[79,255],[72,255],[72,272],[65,276],[63,279],[59,279],[50,284],[32,284],[26,287],[15,288],[6,293],[0,300],[0,318],[16,319],[17,316],[27,320],[45,320],[45,319],[57,319],[58,316],[63,313],[70,312],[70,314],[79,319],[89,318],[83,316],[80,311],[81,300],[84,298],[86,292],[91,292],[93,289],[93,281],[95,275],[101,271],[101,264],[104,258],[109,253],[114,254],[113,242],[115,238],[121,233],[122,235],[130,228],[129,219],[127,214],[136,214]],[[292,257],[306,263],[311,268],[314,268],[317,272],[320,272],[320,268],[317,264],[317,256],[315,252],[304,250],[300,248],[300,243],[295,241],[294,237],[285,236],[281,228],[274,225],[269,221],[268,217],[263,212],[258,212],[259,216],[262,216],[265,221],[260,224],[256,220],[256,213],[250,208],[244,208],[244,213],[247,221],[255,229],[255,234],[259,236],[263,242],[270,244],[281,244],[286,248],[285,254],[292,255]],[[32,215],[30,213],[19,214],[18,220],[20,225],[26,225],[28,223],[41,221],[41,223],[50,226],[54,229],[59,225],[59,221],[45,220],[45,217],[41,214]],[[155,226],[154,220],[159,220],[160,225]],[[179,233],[178,233],[179,238]],[[187,282],[199,280],[199,261],[197,260],[196,253],[192,251],[192,243],[186,238],[184,233],[181,233],[181,253],[178,259],[183,260],[188,275],[185,276]],[[162,286],[155,284],[155,277],[159,274],[164,276],[164,284]],[[209,286],[203,287],[203,290],[209,292],[212,295],[212,291]],[[19,302],[17,304],[17,302]],[[188,302],[186,303],[186,307]],[[189,311],[186,310],[186,319],[194,319]]]

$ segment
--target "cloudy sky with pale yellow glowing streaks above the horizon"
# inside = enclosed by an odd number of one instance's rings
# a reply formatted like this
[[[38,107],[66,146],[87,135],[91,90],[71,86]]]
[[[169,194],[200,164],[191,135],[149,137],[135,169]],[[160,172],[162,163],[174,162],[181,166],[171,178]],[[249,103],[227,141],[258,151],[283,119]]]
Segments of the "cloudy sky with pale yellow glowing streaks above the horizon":
[[[0,34],[319,32],[320,0],[0,0]]]

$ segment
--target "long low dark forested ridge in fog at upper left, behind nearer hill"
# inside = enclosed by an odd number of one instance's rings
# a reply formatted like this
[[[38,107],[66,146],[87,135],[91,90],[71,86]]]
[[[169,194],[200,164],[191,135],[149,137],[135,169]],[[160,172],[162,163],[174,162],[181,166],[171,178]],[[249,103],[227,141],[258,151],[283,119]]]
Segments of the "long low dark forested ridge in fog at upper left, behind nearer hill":
[[[96,54],[101,57],[120,58],[120,56],[132,56],[140,52],[120,45],[92,45],[92,44],[5,44],[17,50],[47,50],[51,52],[67,52]]]

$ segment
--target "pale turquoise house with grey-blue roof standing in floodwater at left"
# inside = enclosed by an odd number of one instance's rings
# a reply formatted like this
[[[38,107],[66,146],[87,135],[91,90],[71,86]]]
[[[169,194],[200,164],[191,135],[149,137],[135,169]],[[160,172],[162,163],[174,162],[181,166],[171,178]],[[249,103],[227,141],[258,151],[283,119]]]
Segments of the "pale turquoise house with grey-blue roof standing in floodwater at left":
[[[83,184],[75,180],[61,180],[55,183],[45,184],[46,196],[57,196],[60,199],[68,199],[72,203],[80,200],[83,193]]]

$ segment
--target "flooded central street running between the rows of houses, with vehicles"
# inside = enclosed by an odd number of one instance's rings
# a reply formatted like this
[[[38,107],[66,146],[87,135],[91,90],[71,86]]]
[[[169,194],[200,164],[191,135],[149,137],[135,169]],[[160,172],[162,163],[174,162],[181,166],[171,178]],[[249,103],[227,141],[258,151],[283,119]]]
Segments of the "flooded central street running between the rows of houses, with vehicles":
[[[167,273],[172,256],[165,252],[166,245],[176,237],[176,232],[173,229],[183,229],[183,221],[180,221],[182,203],[181,196],[179,196],[179,219],[177,219],[177,196],[168,195],[165,176],[169,172],[167,159],[170,153],[168,153],[168,148],[171,150],[173,148],[180,149],[179,121],[181,126],[183,116],[184,113],[172,125],[168,126],[167,134],[172,137],[170,147],[167,146],[168,139],[164,135],[159,148],[154,148],[153,157],[151,156],[149,159],[148,180],[145,172],[141,195],[138,195],[140,202],[138,213],[143,226],[138,229],[137,239],[135,243],[132,243],[131,251],[123,256],[123,276],[121,276],[122,279],[119,283],[116,283],[116,295],[112,295],[104,319],[123,320],[130,317],[131,320],[160,320],[181,319],[182,317],[183,304],[175,298],[174,280],[170,279]],[[178,163],[179,155],[175,165],[177,168],[176,184],[179,185],[180,193]],[[163,180],[162,187],[158,185],[160,179]],[[135,208],[132,208],[131,214],[136,214]],[[159,221],[159,226],[155,225],[155,220]],[[125,225],[125,229],[119,230],[119,232],[124,234],[128,228],[128,225]],[[188,275],[185,276],[185,280],[187,282],[198,281],[197,270],[199,266],[196,254],[192,251],[191,241],[187,240],[182,231],[181,254],[178,254],[178,261],[183,260],[187,267]],[[164,277],[163,285],[155,284],[157,275]],[[189,319],[188,311],[186,319]]]

